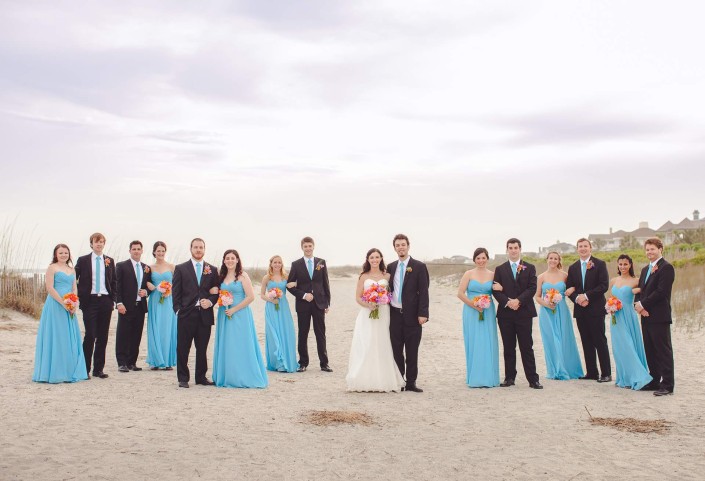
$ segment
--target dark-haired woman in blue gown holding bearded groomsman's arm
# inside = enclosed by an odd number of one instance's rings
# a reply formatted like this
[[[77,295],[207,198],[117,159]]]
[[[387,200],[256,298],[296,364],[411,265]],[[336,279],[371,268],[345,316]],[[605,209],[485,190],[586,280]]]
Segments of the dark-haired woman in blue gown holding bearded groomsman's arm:
[[[229,291],[233,304],[218,308],[213,354],[213,382],[218,387],[267,387],[267,370],[257,341],[250,303],[255,294],[240,254],[228,249],[220,268],[220,289]]]

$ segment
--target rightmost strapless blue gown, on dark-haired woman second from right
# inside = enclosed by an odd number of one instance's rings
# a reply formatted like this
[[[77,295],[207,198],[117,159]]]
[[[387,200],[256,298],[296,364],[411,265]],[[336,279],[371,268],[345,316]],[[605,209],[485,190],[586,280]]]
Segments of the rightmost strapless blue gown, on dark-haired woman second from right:
[[[612,324],[612,316],[609,316],[612,354],[617,370],[616,384],[641,389],[652,378],[646,364],[639,318],[634,310],[634,294],[629,286],[612,286],[612,295],[622,301],[622,309],[615,313],[617,323]]]

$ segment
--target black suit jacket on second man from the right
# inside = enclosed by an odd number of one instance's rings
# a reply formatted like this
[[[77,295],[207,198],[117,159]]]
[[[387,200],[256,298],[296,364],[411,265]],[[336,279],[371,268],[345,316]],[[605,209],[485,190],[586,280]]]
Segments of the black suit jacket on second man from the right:
[[[586,317],[602,317],[605,313],[605,292],[610,285],[610,276],[607,273],[607,264],[597,257],[590,256],[593,266],[585,270],[585,288],[583,288],[583,274],[580,269],[581,261],[578,259],[568,268],[566,289],[575,287],[575,292],[570,296],[573,301],[573,317],[583,319]],[[578,294],[588,296],[587,307],[575,303]]]

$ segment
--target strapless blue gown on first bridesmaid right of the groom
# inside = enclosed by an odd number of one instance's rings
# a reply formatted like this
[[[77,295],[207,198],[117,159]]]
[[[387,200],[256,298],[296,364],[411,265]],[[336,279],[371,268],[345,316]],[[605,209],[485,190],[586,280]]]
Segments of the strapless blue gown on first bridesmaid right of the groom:
[[[490,307],[480,313],[463,304],[463,338],[465,339],[466,383],[470,387],[499,386],[499,342],[497,341],[497,311],[492,300],[492,281],[468,283],[470,300],[479,295],[489,295]]]

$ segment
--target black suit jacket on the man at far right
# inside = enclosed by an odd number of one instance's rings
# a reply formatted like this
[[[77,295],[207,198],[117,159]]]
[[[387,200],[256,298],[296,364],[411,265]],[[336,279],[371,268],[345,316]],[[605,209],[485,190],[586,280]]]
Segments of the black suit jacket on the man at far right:
[[[656,272],[651,272],[649,280],[646,279],[646,273],[649,270],[648,264],[641,270],[639,277],[639,288],[641,292],[636,296],[635,301],[641,302],[641,305],[646,312],[647,317],[641,318],[644,324],[671,324],[671,290],[673,281],[676,279],[676,271],[673,266],[661,258],[656,264]]]

